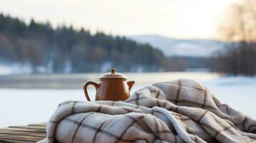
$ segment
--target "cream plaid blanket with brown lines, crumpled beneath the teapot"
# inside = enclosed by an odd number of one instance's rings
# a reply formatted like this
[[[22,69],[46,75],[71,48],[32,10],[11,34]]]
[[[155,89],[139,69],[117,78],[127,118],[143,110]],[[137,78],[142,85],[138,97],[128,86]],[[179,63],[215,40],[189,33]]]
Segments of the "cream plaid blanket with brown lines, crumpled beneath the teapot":
[[[144,87],[125,102],[63,102],[42,142],[256,142],[256,121],[202,84],[179,79]]]

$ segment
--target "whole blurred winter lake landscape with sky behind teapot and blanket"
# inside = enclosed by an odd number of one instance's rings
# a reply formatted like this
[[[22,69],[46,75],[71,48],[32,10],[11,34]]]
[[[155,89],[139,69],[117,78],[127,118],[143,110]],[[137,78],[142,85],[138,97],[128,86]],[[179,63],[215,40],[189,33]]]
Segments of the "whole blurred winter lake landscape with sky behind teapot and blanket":
[[[0,127],[48,122],[112,68],[131,94],[189,78],[256,119],[256,1],[116,1],[1,2]]]

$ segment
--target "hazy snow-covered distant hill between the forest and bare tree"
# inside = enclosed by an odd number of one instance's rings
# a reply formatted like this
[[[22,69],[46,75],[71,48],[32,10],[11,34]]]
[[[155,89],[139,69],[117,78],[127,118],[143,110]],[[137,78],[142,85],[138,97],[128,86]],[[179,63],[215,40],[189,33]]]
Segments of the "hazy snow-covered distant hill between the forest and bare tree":
[[[158,35],[138,35],[129,38],[142,44],[151,44],[161,49],[166,56],[208,57],[228,44],[209,39],[172,39]]]

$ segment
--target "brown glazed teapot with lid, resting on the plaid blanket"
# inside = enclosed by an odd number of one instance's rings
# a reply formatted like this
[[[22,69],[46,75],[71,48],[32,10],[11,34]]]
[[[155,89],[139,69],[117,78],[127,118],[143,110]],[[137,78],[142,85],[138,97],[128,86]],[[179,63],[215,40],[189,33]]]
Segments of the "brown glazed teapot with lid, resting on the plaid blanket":
[[[88,101],[90,101],[90,98],[87,92],[87,86],[90,84],[96,89],[95,100],[124,101],[130,97],[130,91],[135,82],[127,82],[127,77],[115,72],[115,69],[110,69],[110,71],[110,73],[103,74],[99,78],[100,84],[93,81],[85,82],[83,89]]]

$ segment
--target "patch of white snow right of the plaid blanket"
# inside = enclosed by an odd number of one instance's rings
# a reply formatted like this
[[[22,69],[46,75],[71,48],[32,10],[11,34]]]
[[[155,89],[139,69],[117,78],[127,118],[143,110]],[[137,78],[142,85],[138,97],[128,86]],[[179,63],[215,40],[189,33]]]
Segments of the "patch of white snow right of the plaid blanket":
[[[202,81],[220,102],[256,119],[256,77],[222,77]]]

